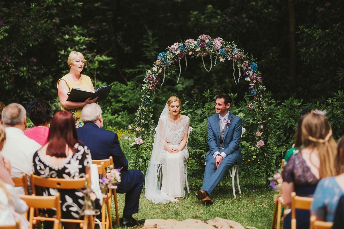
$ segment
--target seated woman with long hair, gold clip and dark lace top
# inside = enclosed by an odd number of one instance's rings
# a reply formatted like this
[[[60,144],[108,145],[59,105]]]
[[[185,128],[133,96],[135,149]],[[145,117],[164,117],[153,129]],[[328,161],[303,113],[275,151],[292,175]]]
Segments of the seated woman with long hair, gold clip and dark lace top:
[[[290,206],[291,193],[313,197],[319,180],[336,174],[334,161],[337,145],[332,137],[332,129],[322,113],[305,115],[302,125],[303,149],[293,154],[283,170],[282,197]],[[310,211],[296,209],[297,228],[309,228]],[[291,214],[283,221],[283,228],[291,228]]]

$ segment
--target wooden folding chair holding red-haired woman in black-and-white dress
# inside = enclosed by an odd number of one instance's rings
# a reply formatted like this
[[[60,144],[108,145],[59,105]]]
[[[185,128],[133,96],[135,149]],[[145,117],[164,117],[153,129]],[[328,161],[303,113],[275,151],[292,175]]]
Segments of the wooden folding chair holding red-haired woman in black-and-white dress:
[[[86,188],[85,183],[91,183],[90,177],[86,174],[85,178],[79,179],[61,179],[61,178],[42,178],[40,176],[34,175],[31,172],[31,185],[32,192],[36,194],[36,187],[46,187],[46,188],[59,188],[59,189],[78,189]],[[79,219],[60,219],[61,222],[72,222],[80,224],[80,228],[87,229],[88,222],[90,221],[92,227],[94,228],[94,220],[92,216],[84,216],[84,220]]]

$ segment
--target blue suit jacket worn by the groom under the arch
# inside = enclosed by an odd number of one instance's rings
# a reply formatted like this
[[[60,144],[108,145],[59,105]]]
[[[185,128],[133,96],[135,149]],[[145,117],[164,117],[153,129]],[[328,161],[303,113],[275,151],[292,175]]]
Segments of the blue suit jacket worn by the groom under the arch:
[[[229,111],[228,111],[229,112]],[[208,118],[208,145],[209,151],[206,154],[206,157],[211,154],[213,155],[216,151],[225,152],[226,155],[233,154],[237,160],[238,164],[241,164],[241,127],[243,121],[238,116],[233,115],[229,112],[228,119],[233,116],[230,124],[225,126],[225,134],[223,139],[223,150],[219,150],[220,145],[220,125],[218,114],[212,115]]]

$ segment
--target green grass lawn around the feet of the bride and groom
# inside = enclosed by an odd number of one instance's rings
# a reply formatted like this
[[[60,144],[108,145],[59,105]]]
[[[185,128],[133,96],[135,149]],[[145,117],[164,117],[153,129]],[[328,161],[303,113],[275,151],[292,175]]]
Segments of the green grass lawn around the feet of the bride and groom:
[[[140,197],[139,213],[133,215],[138,219],[177,219],[196,218],[201,220],[221,217],[239,222],[245,228],[271,228],[272,214],[275,207],[273,192],[267,186],[265,179],[241,178],[239,174],[241,195],[236,192],[233,199],[232,179],[229,173],[212,192],[214,204],[203,206],[196,198],[196,191],[202,186],[202,180],[188,178],[190,193],[186,193],[183,200],[177,203],[153,204],[144,196]],[[237,187],[237,186],[236,186]],[[186,190],[186,188],[185,188]],[[124,208],[124,194],[117,194],[119,216],[122,217]],[[112,204],[112,218],[115,218],[115,205]],[[114,222],[114,228],[116,228]]]

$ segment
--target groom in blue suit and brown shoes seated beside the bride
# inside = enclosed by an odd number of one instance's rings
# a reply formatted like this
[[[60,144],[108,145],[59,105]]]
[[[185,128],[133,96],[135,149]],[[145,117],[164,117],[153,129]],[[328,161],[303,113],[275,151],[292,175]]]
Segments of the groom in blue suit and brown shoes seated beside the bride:
[[[209,151],[205,156],[203,186],[196,197],[202,204],[213,204],[211,192],[234,164],[241,164],[241,124],[238,116],[228,111],[232,98],[227,94],[216,97],[216,114],[208,118]]]

